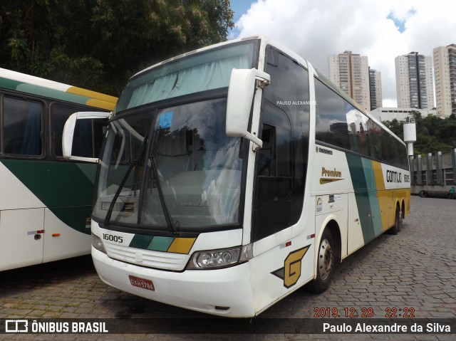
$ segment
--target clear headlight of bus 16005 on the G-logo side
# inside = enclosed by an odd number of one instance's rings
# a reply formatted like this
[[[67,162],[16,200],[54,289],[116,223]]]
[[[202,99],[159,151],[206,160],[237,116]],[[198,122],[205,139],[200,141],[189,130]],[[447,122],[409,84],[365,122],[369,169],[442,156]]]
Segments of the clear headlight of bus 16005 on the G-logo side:
[[[187,269],[213,269],[244,263],[252,258],[252,244],[239,248],[197,251],[193,253]]]

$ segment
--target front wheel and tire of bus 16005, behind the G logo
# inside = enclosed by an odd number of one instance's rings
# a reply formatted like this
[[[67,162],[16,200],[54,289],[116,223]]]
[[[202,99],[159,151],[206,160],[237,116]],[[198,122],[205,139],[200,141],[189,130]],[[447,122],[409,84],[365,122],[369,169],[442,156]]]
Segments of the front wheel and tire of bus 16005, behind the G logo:
[[[323,293],[336,270],[336,247],[329,229],[323,231],[317,257],[316,278],[307,285],[307,289],[312,293]]]

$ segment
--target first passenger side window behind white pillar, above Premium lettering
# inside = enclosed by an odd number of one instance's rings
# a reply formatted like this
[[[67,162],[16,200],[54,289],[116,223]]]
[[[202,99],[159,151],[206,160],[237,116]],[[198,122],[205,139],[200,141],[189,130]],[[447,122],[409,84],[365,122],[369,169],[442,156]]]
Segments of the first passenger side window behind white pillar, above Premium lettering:
[[[315,78],[316,140],[350,149],[345,101]]]

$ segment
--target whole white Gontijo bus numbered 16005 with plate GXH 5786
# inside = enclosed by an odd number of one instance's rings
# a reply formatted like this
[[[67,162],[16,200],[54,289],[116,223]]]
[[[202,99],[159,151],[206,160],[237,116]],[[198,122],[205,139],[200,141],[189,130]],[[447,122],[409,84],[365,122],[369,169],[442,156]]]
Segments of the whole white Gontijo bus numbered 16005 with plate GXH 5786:
[[[405,144],[289,48],[244,38],[134,75],[92,214],[100,278],[150,300],[258,315],[410,213]]]

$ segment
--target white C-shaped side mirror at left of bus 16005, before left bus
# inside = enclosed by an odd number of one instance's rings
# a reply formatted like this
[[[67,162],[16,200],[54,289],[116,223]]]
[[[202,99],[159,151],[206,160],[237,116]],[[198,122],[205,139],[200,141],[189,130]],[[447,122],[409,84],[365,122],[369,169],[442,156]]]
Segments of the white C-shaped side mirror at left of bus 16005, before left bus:
[[[78,120],[105,120],[108,121],[110,112],[75,112],[68,120],[66,120],[65,126],[63,127],[62,135],[62,153],[65,159],[71,159],[75,161],[86,161],[86,162],[98,162],[96,157],[81,157],[72,155],[73,140],[75,135],[76,122]],[[103,134],[104,135],[104,134]],[[91,139],[91,137],[88,137]]]

